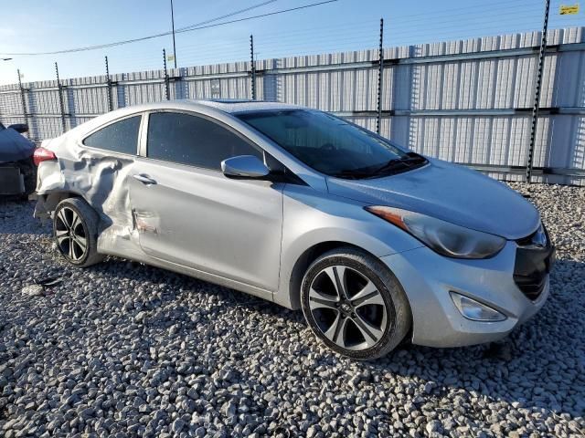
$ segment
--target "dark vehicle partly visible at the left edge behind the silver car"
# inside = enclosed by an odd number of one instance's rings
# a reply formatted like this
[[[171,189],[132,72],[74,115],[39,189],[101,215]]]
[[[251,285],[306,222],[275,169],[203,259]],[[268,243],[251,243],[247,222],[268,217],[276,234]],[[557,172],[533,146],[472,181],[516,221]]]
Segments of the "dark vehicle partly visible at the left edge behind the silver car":
[[[24,137],[28,131],[24,123],[0,123],[0,196],[27,197],[35,192],[37,167],[33,162],[35,143]]]

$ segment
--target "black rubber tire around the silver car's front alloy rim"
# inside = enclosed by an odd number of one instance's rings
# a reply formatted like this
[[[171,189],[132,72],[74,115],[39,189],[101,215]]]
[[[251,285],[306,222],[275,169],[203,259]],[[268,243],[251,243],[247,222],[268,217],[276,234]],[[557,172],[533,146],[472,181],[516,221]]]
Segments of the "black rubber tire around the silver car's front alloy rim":
[[[387,311],[387,326],[384,331],[384,335],[378,343],[369,349],[363,350],[352,350],[352,349],[343,349],[339,347],[335,342],[325,338],[321,329],[317,326],[317,323],[314,320],[313,313],[309,308],[309,288],[314,281],[315,276],[317,276],[325,267],[328,266],[347,266],[355,269],[361,275],[366,276],[370,281],[378,287],[378,291],[380,292],[381,297],[384,300],[386,305]],[[396,281],[396,280],[395,280]],[[335,352],[342,354],[344,356],[350,357],[356,360],[372,360],[376,359],[384,354],[388,353],[391,348],[388,348],[389,345],[398,344],[398,341],[395,338],[396,336],[396,323],[397,323],[397,312],[394,303],[394,299],[392,298],[392,294],[388,290],[387,285],[384,283],[380,275],[371,269],[369,266],[364,265],[363,263],[356,260],[355,257],[351,255],[344,255],[344,254],[335,254],[335,255],[324,255],[323,257],[318,258],[315,260],[314,264],[309,266],[307,272],[303,278],[303,284],[301,288],[301,306],[303,308],[304,318],[306,319],[307,323],[309,324],[310,328],[314,331],[316,336],[321,339],[324,344],[333,349]]]

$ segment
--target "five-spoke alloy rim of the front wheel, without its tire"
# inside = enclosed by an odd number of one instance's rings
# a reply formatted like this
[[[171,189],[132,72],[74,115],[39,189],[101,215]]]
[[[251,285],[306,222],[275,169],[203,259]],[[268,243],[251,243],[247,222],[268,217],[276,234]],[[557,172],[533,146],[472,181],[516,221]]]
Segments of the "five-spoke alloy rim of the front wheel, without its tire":
[[[387,329],[388,311],[378,287],[348,266],[327,266],[314,276],[309,309],[324,337],[343,349],[369,349]]]

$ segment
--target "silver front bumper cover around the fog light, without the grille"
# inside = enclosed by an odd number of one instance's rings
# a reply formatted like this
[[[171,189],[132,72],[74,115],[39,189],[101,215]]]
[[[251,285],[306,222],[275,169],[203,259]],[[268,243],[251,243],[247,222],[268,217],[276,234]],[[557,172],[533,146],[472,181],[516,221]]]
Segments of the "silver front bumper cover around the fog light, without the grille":
[[[410,301],[412,342],[429,347],[460,347],[504,338],[518,324],[542,308],[549,293],[549,277],[535,300],[514,280],[516,242],[508,242],[495,257],[454,259],[427,247],[381,257],[399,279]],[[497,322],[463,317],[450,291],[471,297],[505,315]]]

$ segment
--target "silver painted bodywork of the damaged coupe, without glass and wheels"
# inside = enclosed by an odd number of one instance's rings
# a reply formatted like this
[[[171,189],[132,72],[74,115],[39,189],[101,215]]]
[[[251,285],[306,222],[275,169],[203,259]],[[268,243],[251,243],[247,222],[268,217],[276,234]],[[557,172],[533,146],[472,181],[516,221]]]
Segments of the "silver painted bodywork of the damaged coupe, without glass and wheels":
[[[61,193],[77,193],[101,216],[100,252],[197,276],[289,308],[299,307],[293,286],[299,282],[303,255],[326,242],[356,245],[380,257],[399,278],[410,300],[413,340],[424,345],[496,339],[541,306],[513,284],[513,242],[492,259],[453,260],[362,208],[372,203],[420,208],[421,213],[514,238],[530,234],[539,221],[536,210],[519,195],[478,173],[435,160],[418,171],[384,179],[327,178],[230,114],[271,108],[295,107],[184,100],[116,110],[90,120],[43,142],[58,162],[39,166],[37,193],[47,196],[39,197],[36,215],[47,217]],[[221,172],[144,158],[146,117],[161,110],[218,120],[269,152],[306,185],[229,180]],[[82,145],[92,131],[135,114],[144,115],[139,154]],[[137,174],[156,183],[144,184],[134,178]],[[460,177],[465,187],[457,183]],[[496,219],[494,212],[503,216]],[[504,310],[508,318],[498,323],[463,318],[452,304],[450,288]]]

